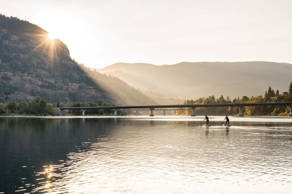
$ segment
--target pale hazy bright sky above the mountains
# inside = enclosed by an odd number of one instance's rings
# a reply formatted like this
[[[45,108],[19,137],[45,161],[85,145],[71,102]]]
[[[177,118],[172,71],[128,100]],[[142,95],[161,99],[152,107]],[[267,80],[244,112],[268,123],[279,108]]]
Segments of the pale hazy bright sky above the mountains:
[[[292,63],[291,0],[0,0],[86,66],[182,61]]]

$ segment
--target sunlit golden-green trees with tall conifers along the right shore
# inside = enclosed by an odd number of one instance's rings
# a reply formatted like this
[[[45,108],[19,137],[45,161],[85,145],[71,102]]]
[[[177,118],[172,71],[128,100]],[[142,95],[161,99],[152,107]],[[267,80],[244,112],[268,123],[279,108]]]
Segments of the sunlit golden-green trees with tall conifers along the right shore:
[[[255,102],[290,102],[292,101],[292,82],[290,83],[288,92],[279,94],[279,90],[272,90],[269,87],[265,92],[265,96],[243,96],[242,98],[230,99],[229,96],[226,99],[221,95],[219,98],[215,98],[214,95],[209,97],[202,97],[196,100],[185,100],[184,104],[231,104],[231,103],[255,103]],[[186,108],[185,111],[174,111],[174,115],[191,115],[192,111]],[[195,113],[197,115],[237,115],[239,113],[238,107],[203,107],[196,108]],[[287,116],[290,113],[290,109],[286,106],[246,106],[243,108],[244,115],[259,116]]]

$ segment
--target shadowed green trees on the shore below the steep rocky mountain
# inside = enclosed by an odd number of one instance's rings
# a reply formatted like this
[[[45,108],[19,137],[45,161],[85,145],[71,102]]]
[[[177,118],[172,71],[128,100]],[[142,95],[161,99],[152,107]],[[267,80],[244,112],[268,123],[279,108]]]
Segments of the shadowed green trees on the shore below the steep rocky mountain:
[[[103,100],[95,100],[84,103],[62,104],[62,103],[47,103],[40,96],[36,96],[34,100],[27,101],[25,99],[20,102],[15,100],[6,100],[0,103],[0,115],[37,115],[37,116],[57,116],[62,115],[63,112],[58,111],[59,107],[88,107],[88,106],[116,106],[115,104],[108,104]],[[80,111],[69,111],[70,115],[82,115]],[[112,110],[88,110],[86,115],[103,115],[111,114]]]

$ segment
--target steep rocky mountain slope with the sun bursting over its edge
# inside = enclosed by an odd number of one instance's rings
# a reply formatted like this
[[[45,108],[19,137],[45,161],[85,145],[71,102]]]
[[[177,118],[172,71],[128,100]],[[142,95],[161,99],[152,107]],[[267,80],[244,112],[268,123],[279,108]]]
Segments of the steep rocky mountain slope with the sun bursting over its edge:
[[[0,15],[0,101],[37,95],[47,102],[156,104],[120,79],[77,63],[62,41],[49,39],[39,26]]]

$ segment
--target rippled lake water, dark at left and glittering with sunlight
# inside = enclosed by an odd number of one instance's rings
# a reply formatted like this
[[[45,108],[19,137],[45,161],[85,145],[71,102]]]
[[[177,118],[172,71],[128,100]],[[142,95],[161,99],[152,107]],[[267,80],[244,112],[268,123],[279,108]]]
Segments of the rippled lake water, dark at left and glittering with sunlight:
[[[209,118],[2,117],[0,193],[291,193],[291,118]]]

